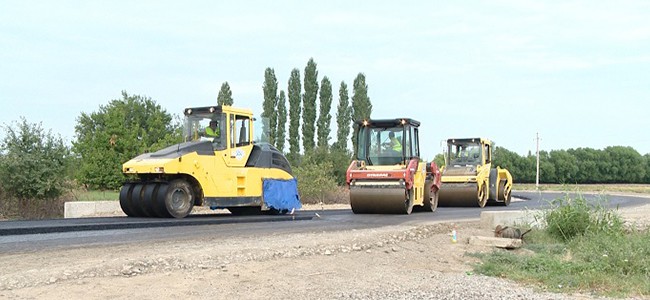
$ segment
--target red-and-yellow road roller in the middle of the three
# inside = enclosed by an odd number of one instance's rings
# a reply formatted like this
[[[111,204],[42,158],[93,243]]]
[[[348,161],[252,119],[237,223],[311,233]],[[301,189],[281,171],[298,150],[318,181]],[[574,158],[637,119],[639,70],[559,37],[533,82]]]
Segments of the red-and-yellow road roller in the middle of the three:
[[[436,210],[440,171],[420,158],[419,126],[409,118],[355,122],[356,159],[346,172],[355,214]]]

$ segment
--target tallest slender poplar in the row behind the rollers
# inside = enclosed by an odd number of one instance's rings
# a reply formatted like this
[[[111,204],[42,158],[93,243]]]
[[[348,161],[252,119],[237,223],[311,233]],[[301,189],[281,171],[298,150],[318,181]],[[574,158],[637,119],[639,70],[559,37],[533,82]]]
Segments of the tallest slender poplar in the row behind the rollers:
[[[302,109],[302,146],[305,153],[314,149],[316,131],[316,97],[318,96],[318,71],[313,58],[305,67],[305,94]]]

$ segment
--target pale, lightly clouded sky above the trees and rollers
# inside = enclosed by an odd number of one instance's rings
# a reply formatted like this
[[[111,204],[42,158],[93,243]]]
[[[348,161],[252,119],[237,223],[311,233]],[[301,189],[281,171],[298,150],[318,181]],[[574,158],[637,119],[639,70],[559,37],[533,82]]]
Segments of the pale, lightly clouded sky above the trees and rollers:
[[[421,121],[428,159],[449,137],[524,155],[537,132],[543,150],[650,153],[650,1],[0,0],[0,45],[0,122],[68,142],[122,90],[180,114],[228,81],[261,113],[264,69],[286,91],[313,57],[332,140],[340,82],[363,72],[372,117]]]

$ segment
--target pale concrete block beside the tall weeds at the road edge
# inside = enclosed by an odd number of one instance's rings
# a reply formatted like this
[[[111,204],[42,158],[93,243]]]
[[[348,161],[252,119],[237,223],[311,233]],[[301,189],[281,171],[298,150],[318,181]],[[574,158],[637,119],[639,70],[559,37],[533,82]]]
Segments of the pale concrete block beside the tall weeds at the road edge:
[[[542,223],[541,210],[500,210],[500,211],[482,211],[481,212],[481,228],[494,230],[497,225],[501,226],[516,226],[516,225],[530,225],[532,227],[541,228]]]

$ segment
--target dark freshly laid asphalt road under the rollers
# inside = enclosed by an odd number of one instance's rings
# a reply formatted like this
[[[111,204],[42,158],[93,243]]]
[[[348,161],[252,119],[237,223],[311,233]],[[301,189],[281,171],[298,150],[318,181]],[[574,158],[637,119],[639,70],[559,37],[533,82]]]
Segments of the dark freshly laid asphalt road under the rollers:
[[[0,252],[24,253],[48,249],[129,244],[151,241],[191,240],[197,237],[219,239],[244,236],[281,236],[288,233],[336,231],[417,224],[429,221],[477,219],[486,210],[539,209],[552,200],[565,197],[559,192],[513,192],[510,206],[439,207],[436,212],[411,215],[355,215],[350,209],[306,210],[283,216],[194,215],[185,219],[84,218],[0,222]],[[570,195],[571,197],[575,195]],[[647,203],[634,196],[584,194],[588,201],[604,200],[610,207],[629,207]]]

